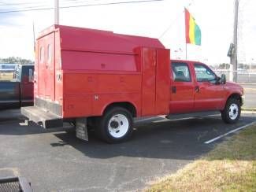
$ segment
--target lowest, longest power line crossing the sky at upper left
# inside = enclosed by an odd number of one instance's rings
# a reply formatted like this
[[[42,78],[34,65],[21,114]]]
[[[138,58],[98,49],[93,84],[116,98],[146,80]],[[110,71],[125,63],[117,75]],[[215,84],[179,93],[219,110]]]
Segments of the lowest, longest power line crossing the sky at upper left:
[[[87,5],[79,5],[79,6],[60,6],[60,9],[69,9],[69,8],[86,7],[86,6],[113,6],[113,5],[121,5],[121,4],[162,2],[162,1],[165,1],[165,0],[141,0],[141,1],[130,1],[130,2],[109,2],[109,3],[87,4]],[[18,13],[18,12],[41,11],[41,10],[50,10],[50,9],[54,9],[54,8],[49,7],[49,8],[40,8],[40,9],[7,10],[7,11],[0,11],[0,13]]]

